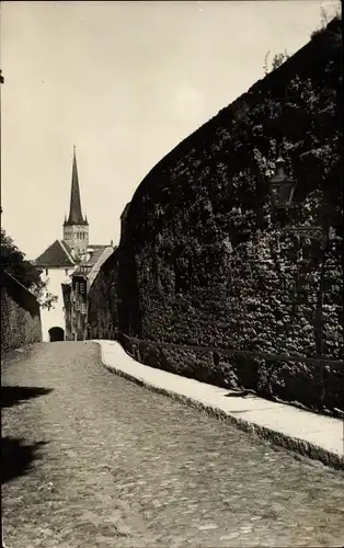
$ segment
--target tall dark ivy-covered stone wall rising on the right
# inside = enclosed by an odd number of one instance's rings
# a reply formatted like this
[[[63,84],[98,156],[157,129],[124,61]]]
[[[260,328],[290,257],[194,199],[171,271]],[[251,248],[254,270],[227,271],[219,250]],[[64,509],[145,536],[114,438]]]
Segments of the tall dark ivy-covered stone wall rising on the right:
[[[343,359],[340,36],[335,21],[181,142],[139,185],[116,284],[103,278],[103,305],[113,292],[121,300],[119,331],[161,343],[157,349],[122,338],[138,361],[312,409],[344,409],[342,366],[328,365],[320,375],[306,362],[228,358],[220,351],[306,358],[322,352]],[[293,209],[274,217],[267,176],[278,144],[298,186]],[[288,225],[322,227],[325,249],[298,241],[285,231]]]

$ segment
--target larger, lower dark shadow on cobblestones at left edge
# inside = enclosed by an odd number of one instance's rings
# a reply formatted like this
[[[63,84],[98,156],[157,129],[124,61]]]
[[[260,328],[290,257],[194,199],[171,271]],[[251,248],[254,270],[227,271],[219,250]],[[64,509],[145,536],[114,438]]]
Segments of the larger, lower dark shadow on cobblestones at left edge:
[[[1,438],[1,484],[27,473],[32,463],[39,458],[37,450],[47,442],[25,445],[22,438]]]

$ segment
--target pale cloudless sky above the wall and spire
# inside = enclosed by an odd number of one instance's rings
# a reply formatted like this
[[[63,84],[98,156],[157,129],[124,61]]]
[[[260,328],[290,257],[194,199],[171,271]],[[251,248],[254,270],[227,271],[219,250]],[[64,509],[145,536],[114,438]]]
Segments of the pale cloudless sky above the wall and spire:
[[[91,243],[147,173],[302,47],[332,0],[2,1],[1,224],[28,259],[62,238],[72,147]]]

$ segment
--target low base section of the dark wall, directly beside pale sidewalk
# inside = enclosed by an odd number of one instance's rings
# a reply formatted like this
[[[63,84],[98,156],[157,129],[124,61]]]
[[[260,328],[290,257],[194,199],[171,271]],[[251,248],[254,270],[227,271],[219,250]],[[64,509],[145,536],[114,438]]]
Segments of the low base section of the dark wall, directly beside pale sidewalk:
[[[229,389],[249,389],[257,396],[344,418],[344,364],[314,358],[264,359],[228,355],[226,351],[153,343],[117,334],[137,362]]]

